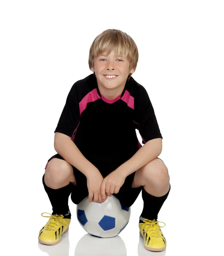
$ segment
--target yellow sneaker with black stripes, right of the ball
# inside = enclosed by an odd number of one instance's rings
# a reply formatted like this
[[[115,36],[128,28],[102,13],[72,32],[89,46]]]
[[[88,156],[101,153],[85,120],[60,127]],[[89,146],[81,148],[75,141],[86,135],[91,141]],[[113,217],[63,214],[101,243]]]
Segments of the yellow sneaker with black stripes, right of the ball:
[[[148,219],[143,220],[144,223],[139,223],[140,236],[144,239],[145,249],[160,252],[166,249],[166,239],[160,230],[158,222],[161,221],[150,221]],[[162,222],[164,223],[164,222]],[[164,223],[165,227],[166,224]]]

